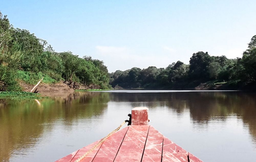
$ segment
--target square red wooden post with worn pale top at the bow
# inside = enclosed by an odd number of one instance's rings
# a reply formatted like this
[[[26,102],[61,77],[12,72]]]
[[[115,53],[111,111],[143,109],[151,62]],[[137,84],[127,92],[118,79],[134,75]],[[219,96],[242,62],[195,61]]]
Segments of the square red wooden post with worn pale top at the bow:
[[[135,107],[132,109],[131,125],[148,125],[148,108]]]

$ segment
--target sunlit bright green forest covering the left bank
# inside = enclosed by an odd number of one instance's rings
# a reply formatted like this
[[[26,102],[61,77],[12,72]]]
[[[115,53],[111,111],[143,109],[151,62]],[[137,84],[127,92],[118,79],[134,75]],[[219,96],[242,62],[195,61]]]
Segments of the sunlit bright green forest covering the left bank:
[[[0,12],[0,91],[21,90],[19,82],[36,84],[72,82],[109,88],[109,73],[103,61],[72,52],[55,52],[47,41],[28,30],[14,28]]]

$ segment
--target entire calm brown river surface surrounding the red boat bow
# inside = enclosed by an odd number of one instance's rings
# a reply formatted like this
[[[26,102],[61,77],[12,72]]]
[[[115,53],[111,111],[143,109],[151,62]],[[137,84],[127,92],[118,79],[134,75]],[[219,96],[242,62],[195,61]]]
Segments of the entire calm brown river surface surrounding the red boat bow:
[[[0,161],[55,161],[107,135],[137,106],[204,162],[256,161],[256,93],[158,90],[0,99]]]

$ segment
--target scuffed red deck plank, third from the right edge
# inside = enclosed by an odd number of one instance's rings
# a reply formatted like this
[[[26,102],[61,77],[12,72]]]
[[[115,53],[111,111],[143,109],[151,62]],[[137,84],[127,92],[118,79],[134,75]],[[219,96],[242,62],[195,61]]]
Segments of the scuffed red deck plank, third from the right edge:
[[[161,162],[164,136],[153,126],[149,127],[142,162]]]

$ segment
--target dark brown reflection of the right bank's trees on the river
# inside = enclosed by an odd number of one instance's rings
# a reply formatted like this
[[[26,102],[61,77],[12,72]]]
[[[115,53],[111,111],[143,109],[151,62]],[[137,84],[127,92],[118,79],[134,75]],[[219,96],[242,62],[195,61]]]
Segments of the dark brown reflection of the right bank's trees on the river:
[[[130,102],[133,107],[168,107],[176,113],[189,110],[194,123],[207,126],[210,120],[241,117],[249,127],[256,145],[256,94],[248,92],[174,92],[174,93],[110,93],[115,102]],[[202,125],[195,125],[201,127]]]

